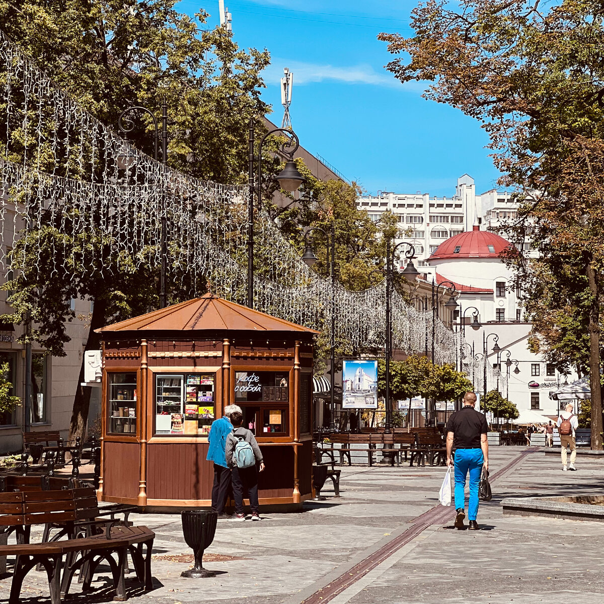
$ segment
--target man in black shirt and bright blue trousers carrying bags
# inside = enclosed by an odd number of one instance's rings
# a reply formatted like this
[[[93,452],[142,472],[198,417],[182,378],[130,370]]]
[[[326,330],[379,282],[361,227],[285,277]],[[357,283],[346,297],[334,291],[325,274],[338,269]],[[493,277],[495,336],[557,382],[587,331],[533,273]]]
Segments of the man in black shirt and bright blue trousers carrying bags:
[[[478,483],[483,465],[489,469],[489,442],[486,417],[474,410],[476,394],[466,392],[463,407],[455,411],[447,422],[447,465],[452,465],[451,451],[455,449],[455,527],[463,528],[466,517],[466,476],[470,472],[470,498],[467,506],[469,529],[478,530]]]

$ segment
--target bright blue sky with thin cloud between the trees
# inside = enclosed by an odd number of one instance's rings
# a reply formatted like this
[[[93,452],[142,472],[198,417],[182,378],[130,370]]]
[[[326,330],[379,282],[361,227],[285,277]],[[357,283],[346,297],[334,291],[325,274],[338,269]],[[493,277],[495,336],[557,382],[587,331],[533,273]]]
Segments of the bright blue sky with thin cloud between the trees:
[[[393,56],[376,36],[411,34],[415,0],[225,0],[240,46],[267,48],[263,98],[281,125],[280,79],[294,73],[290,109],[300,142],[368,192],[448,195],[468,173],[477,191],[495,186],[498,172],[486,134],[474,120],[423,99],[422,88],[403,86],[384,65]],[[201,6],[219,23],[218,0],[182,0],[179,10]]]

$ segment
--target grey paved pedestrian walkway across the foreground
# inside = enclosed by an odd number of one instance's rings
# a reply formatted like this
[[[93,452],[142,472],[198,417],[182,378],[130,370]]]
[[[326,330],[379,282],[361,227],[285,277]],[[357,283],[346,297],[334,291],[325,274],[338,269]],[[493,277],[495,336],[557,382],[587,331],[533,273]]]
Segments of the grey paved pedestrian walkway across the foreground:
[[[601,492],[604,461],[582,458],[579,471],[562,473],[557,457],[501,447],[492,448],[490,465],[496,480],[493,500],[481,504],[480,532],[454,530],[452,507],[437,505],[443,467],[344,467],[341,498],[328,483],[327,500],[308,502],[304,512],[266,514],[254,523],[219,521],[204,563],[219,573],[210,579],[180,577],[191,566],[191,550],[179,515],[135,515],[133,521],[157,535],[156,589],[141,594],[132,583],[130,601],[566,604],[580,597],[582,604],[599,603],[604,523],[503,516],[500,501]],[[28,579],[23,596],[48,602],[42,573]],[[0,602],[9,587],[10,579],[0,581]],[[78,589],[71,602],[110,599]]]

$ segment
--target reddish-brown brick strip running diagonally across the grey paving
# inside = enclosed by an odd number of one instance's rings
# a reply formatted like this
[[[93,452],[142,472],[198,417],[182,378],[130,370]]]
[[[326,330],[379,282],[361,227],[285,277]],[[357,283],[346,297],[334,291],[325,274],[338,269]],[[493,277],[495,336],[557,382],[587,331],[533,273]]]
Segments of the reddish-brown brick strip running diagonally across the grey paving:
[[[489,482],[493,483],[498,478],[503,477],[503,475],[521,463],[526,455],[538,450],[537,448],[524,449],[518,457],[490,476]],[[406,525],[403,525],[385,543],[384,540],[381,540],[376,545],[373,545],[373,547],[353,557],[352,560],[323,577],[320,582],[314,583],[305,590],[301,590],[296,596],[287,600],[285,604],[326,604],[327,602],[331,602],[336,596],[347,590],[359,579],[362,579],[362,577],[386,561],[404,545],[420,536],[427,528],[451,519],[451,510],[451,507],[443,507],[440,504],[432,507],[428,512],[417,516],[410,527],[405,528]],[[316,587],[318,584],[323,584],[323,586],[317,590]]]

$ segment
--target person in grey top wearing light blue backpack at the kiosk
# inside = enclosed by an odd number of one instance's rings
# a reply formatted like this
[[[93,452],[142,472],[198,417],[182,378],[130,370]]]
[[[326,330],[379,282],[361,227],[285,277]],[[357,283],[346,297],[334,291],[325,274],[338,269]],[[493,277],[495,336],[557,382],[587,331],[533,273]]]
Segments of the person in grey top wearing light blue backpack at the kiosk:
[[[226,464],[231,468],[233,495],[235,498],[235,516],[233,520],[245,521],[243,513],[243,495],[247,491],[252,520],[260,520],[258,504],[258,470],[265,469],[260,447],[254,434],[242,427],[243,414],[235,411],[231,414],[233,432],[226,438]]]

